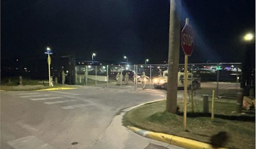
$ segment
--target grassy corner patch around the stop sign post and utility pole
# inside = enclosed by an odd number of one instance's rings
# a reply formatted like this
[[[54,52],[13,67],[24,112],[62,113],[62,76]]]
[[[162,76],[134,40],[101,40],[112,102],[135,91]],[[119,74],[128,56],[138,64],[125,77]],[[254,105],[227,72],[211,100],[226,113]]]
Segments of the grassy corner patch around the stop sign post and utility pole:
[[[135,126],[148,131],[172,134],[211,144],[212,136],[222,147],[232,149],[255,149],[255,111],[236,114],[236,104],[215,102],[215,119],[210,113],[202,113],[202,101],[196,101],[195,113],[191,104],[187,105],[187,129],[183,131],[183,108],[181,114],[165,111],[166,101],[143,105],[128,111],[123,117],[123,125]],[[183,107],[182,104],[178,104]],[[209,109],[211,103],[209,102]],[[220,133],[216,135],[217,133]],[[214,140],[214,139],[213,139]]]

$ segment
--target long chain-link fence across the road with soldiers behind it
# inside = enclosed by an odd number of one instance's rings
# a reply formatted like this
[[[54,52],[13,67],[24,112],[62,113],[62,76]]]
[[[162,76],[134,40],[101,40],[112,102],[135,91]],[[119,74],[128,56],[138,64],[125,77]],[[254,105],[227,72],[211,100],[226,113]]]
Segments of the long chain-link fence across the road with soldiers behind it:
[[[234,96],[240,88],[241,63],[188,64],[188,84],[198,94]],[[79,65],[76,66],[76,82],[80,85],[142,89],[141,75],[148,76],[145,88],[152,91],[166,89],[168,65]],[[178,86],[184,87],[184,64],[179,65]]]

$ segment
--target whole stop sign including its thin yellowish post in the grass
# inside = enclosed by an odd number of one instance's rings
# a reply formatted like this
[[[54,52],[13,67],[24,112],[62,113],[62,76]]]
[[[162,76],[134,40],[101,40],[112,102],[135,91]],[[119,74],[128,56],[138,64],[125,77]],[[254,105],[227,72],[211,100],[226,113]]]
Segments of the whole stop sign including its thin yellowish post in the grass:
[[[187,59],[188,56],[191,56],[194,48],[194,35],[188,18],[186,18],[186,24],[181,32],[181,46],[185,54],[183,128],[184,131],[187,131]]]

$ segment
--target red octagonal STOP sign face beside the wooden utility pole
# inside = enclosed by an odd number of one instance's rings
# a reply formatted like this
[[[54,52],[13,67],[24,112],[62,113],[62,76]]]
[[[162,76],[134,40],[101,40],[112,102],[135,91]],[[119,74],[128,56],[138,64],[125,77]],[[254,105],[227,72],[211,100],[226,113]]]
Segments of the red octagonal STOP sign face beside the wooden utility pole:
[[[194,48],[194,35],[192,27],[185,25],[181,32],[181,47],[185,55],[191,56]]]

